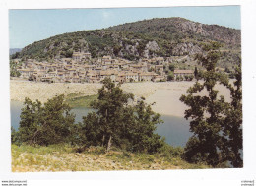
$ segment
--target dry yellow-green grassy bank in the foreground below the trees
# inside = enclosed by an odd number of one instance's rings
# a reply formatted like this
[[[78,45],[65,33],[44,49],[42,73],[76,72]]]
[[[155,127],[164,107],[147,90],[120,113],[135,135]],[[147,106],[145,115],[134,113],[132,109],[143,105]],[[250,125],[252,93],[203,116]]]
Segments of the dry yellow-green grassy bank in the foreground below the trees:
[[[167,154],[132,154],[123,151],[104,153],[101,147],[76,153],[73,147],[57,145],[31,147],[12,145],[12,171],[100,171],[100,170],[164,170],[210,168],[190,164]]]

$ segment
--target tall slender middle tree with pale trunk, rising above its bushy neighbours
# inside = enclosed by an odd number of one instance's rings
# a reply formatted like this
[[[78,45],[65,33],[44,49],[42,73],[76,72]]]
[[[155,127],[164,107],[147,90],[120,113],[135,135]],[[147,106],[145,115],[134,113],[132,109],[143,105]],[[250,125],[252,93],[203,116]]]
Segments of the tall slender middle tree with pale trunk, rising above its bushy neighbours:
[[[102,88],[98,90],[98,100],[92,104],[97,109],[102,145],[107,146],[107,151],[111,148],[112,139],[118,137],[119,123],[122,123],[121,116],[129,98],[133,99],[133,95],[124,94],[120,85],[115,86],[110,79],[105,79]]]

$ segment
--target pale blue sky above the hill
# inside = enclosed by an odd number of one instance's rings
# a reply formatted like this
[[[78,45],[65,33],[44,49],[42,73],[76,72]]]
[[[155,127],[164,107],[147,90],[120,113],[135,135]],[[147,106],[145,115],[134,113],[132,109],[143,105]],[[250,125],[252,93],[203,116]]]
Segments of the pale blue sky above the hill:
[[[152,18],[182,17],[240,29],[240,6],[9,10],[10,48],[73,31],[108,28]]]

